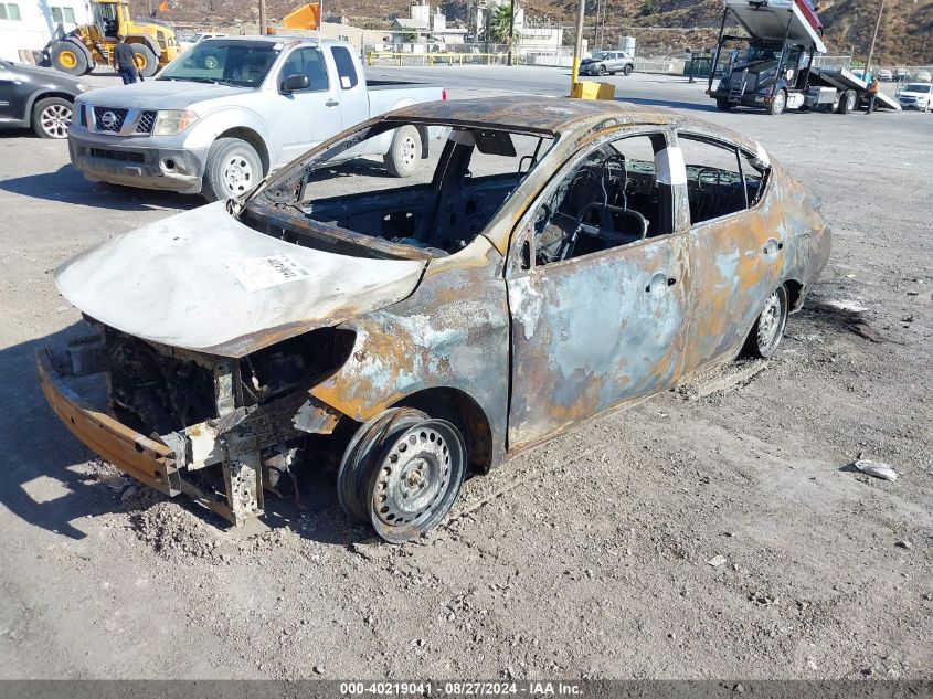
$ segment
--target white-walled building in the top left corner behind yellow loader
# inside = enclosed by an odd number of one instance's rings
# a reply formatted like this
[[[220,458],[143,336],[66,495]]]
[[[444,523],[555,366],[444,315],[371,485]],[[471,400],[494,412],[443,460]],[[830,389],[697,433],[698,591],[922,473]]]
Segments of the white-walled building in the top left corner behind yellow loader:
[[[0,59],[22,61],[45,46],[59,24],[70,32],[87,22],[83,0],[0,0]]]

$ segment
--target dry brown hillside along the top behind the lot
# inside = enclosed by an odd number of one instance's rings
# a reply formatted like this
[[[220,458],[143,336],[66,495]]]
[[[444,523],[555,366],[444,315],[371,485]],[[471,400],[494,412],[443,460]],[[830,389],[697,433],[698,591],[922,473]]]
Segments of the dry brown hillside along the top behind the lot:
[[[587,33],[596,15],[596,1],[587,1]],[[145,0],[134,0],[137,4]],[[155,4],[155,0],[150,0]],[[280,18],[301,0],[267,0],[271,18]],[[467,2],[441,0],[448,19],[466,18]],[[607,35],[634,34],[644,50],[680,53],[687,46],[709,45],[715,39],[721,0],[606,0]],[[526,0],[527,15],[550,18],[570,28],[575,0]],[[826,25],[829,52],[865,59],[878,0],[824,0],[817,2]],[[234,18],[255,20],[256,0],[172,0],[170,19],[223,22]],[[360,27],[388,27],[396,14],[407,17],[409,0],[325,0],[325,14],[343,14]],[[570,35],[571,32],[568,32]],[[591,39],[592,42],[592,39]],[[887,0],[878,34],[876,57],[886,64],[926,65],[933,63],[933,0]]]

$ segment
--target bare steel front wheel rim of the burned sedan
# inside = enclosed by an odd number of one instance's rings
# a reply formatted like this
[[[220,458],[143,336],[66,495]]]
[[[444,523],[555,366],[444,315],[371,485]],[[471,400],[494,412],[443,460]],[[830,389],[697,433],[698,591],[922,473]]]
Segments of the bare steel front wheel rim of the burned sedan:
[[[426,420],[393,439],[369,484],[377,532],[400,543],[436,527],[459,493],[465,454],[459,433],[443,420]]]

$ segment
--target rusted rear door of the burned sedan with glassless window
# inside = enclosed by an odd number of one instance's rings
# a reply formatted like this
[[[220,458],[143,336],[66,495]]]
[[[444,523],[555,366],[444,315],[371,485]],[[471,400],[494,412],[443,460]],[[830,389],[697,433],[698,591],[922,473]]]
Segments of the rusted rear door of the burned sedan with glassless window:
[[[741,349],[765,298],[781,283],[785,231],[763,206],[766,179],[734,144],[678,133],[691,224],[696,289],[683,371]]]

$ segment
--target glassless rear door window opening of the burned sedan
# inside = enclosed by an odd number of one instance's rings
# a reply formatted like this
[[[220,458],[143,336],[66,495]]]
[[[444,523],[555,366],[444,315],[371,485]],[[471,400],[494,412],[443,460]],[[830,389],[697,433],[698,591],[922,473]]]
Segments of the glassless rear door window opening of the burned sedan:
[[[681,134],[690,223],[744,211],[762,192],[764,171],[733,145]]]

